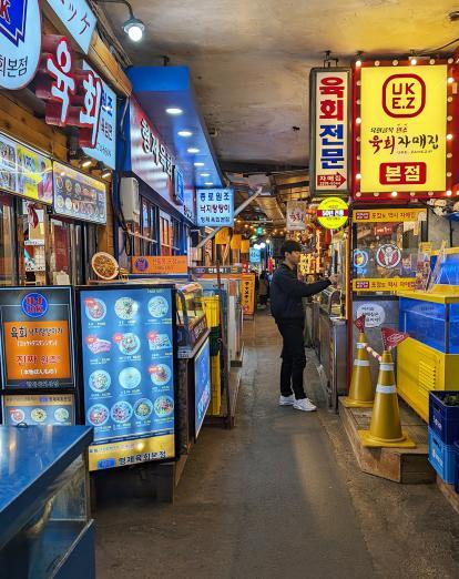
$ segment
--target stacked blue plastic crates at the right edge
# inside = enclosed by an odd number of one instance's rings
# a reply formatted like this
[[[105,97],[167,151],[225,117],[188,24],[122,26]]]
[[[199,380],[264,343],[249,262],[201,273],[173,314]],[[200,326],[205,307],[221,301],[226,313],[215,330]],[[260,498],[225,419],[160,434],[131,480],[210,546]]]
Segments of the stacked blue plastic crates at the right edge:
[[[429,393],[429,461],[438,476],[449,485],[456,481],[459,488],[455,443],[459,440],[459,406],[445,404],[457,390],[432,390]]]

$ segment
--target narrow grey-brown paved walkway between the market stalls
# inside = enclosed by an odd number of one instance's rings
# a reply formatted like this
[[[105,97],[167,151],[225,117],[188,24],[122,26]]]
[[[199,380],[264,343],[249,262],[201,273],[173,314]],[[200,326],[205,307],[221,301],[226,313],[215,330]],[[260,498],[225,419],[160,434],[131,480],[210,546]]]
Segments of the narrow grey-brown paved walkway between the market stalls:
[[[98,578],[458,577],[459,524],[437,488],[360,474],[336,417],[277,406],[269,316],[246,344],[236,428],[203,429],[174,506],[98,511]],[[313,363],[307,376],[317,400]]]

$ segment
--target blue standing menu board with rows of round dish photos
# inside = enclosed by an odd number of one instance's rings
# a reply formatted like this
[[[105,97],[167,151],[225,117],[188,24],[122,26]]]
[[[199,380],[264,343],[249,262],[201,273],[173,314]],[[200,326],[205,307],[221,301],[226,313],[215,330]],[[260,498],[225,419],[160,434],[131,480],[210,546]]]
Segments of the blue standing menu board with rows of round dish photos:
[[[90,469],[174,456],[171,287],[81,290]]]

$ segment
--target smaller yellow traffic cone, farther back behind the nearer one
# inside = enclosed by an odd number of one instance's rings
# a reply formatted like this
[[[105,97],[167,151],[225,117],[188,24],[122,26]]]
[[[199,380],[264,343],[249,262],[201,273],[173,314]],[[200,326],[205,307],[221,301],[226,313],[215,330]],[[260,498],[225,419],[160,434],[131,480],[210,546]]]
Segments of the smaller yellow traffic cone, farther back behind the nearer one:
[[[360,332],[357,339],[349,396],[341,398],[341,403],[346,408],[369,408],[375,400],[366,345],[367,337],[364,332]]]

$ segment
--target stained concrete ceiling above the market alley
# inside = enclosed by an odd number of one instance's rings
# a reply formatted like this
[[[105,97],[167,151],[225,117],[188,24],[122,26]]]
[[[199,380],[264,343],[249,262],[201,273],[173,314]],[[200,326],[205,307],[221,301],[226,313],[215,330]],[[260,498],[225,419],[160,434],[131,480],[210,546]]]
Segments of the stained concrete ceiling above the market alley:
[[[142,43],[121,30],[128,10],[101,4],[134,64],[187,64],[220,161],[307,166],[308,73],[332,50],[405,54],[459,37],[451,0],[133,0]],[[293,130],[293,126],[299,128]]]

